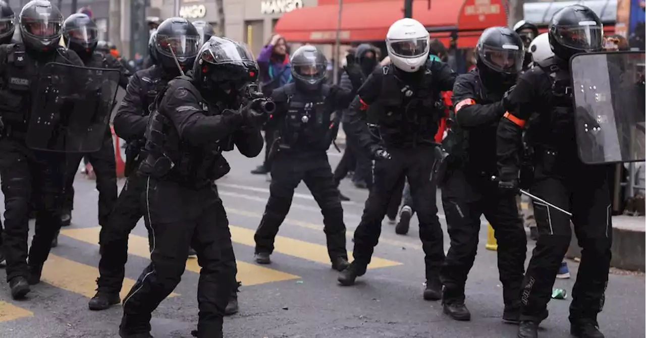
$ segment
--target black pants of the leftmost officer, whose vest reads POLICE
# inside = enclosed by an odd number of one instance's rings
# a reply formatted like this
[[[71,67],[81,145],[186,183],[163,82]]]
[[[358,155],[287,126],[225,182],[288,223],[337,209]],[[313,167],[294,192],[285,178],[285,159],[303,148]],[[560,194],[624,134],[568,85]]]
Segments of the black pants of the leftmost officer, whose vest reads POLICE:
[[[65,186],[65,155],[34,151],[22,140],[0,139],[0,178],[5,195],[6,279],[28,277],[28,265],[45,263],[52,240],[61,229],[61,204]],[[36,206],[36,232],[27,251],[31,196]]]

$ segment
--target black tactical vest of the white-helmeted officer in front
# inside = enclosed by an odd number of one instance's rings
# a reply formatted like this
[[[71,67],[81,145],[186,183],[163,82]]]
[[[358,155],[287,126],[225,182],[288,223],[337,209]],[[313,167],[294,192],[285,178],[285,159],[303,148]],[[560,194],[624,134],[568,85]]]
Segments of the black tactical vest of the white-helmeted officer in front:
[[[368,121],[377,121],[386,144],[414,147],[434,143],[437,122],[444,112],[436,107],[440,92],[433,83],[430,61],[418,83],[402,83],[391,67],[382,67],[381,93],[371,105],[375,107],[368,110]]]

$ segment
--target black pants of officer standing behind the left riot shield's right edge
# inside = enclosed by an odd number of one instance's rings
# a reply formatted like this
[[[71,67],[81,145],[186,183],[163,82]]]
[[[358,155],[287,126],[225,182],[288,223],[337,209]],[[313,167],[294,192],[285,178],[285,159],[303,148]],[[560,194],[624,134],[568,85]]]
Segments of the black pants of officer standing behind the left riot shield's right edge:
[[[114,143],[112,133],[107,129],[101,149],[94,153],[69,154],[68,173],[65,183],[65,200],[63,209],[74,209],[74,176],[83,156],[86,156],[96,173],[96,189],[99,191],[99,224],[105,226],[110,217],[110,211],[117,200],[116,162],[114,158]]]

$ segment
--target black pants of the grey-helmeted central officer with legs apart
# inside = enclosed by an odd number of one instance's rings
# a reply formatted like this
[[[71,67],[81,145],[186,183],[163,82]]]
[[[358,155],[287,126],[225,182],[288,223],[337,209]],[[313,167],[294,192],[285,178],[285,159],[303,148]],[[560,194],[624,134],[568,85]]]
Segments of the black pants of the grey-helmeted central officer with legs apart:
[[[346,225],[339,190],[335,185],[328,155],[320,153],[278,153],[271,166],[269,200],[254,236],[256,253],[272,253],[278,227],[285,220],[294,189],[304,181],[323,214],[328,254],[332,262],[337,257],[348,259]]]

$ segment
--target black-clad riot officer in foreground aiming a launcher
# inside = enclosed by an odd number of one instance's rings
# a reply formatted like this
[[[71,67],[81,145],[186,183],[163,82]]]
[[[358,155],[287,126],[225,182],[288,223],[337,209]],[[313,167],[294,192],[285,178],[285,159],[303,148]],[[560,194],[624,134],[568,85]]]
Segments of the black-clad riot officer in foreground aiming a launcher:
[[[198,38],[184,46],[197,48]],[[178,48],[172,53],[179,57],[187,52]],[[143,196],[152,262],[123,301],[121,337],[149,334],[151,312],[180,282],[189,245],[202,265],[200,318],[193,335],[222,337],[235,266],[233,257],[227,257],[233,256],[231,233],[214,180],[230,169],[222,151],[235,145],[248,157],[260,153],[260,125],[266,116],[256,111],[256,100],[240,100],[258,74],[245,45],[213,37],[200,48],[193,74],[194,78],[169,82],[146,131],[147,158],[140,172],[146,180]]]

